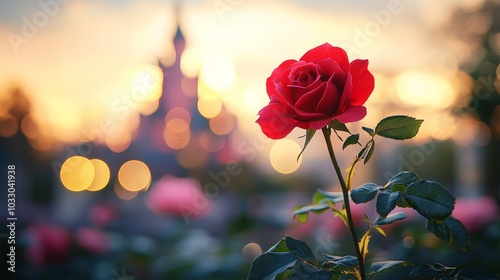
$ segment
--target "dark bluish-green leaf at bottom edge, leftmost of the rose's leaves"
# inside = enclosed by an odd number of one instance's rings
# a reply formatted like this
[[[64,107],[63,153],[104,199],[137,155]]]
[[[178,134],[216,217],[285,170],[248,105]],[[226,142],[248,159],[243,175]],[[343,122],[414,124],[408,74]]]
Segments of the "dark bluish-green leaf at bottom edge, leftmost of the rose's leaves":
[[[272,280],[295,265],[299,257],[290,252],[267,252],[258,256],[250,267],[248,280]]]

